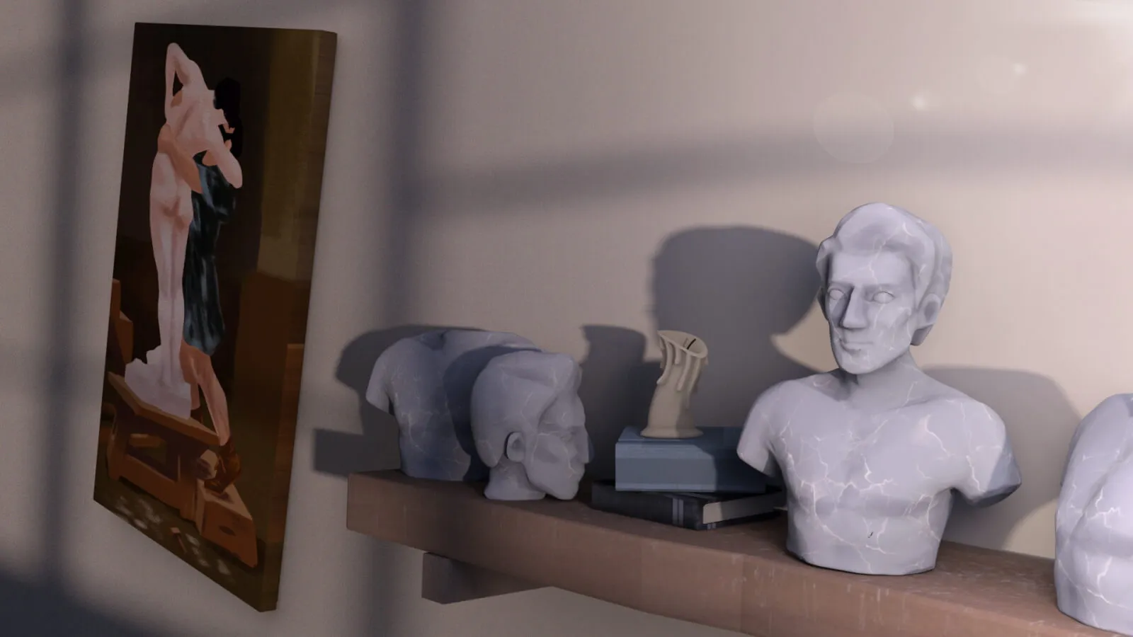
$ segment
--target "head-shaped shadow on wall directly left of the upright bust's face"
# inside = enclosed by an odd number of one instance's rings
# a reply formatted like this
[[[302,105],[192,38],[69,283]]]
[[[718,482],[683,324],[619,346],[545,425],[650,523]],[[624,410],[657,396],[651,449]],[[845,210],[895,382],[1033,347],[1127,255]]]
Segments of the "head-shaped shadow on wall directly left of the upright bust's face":
[[[701,425],[742,426],[751,404],[781,381],[815,373],[775,347],[818,294],[810,241],[761,228],[698,228],[671,236],[654,258],[658,330],[708,345],[692,397]]]

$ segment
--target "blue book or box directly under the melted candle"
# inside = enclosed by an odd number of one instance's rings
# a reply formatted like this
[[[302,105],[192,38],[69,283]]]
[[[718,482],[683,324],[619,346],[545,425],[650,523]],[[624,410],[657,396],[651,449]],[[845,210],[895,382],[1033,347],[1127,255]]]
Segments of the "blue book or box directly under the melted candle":
[[[764,493],[767,477],[735,453],[742,427],[700,427],[688,439],[644,438],[625,427],[614,447],[617,491]]]

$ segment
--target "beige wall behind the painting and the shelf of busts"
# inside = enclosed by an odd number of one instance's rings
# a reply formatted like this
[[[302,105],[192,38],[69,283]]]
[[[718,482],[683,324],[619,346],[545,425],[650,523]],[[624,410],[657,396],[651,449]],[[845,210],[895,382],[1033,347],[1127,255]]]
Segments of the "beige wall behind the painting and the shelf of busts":
[[[1000,411],[1024,475],[1003,504],[957,510],[949,534],[1049,555],[1073,427],[1105,397],[1133,389],[1133,9],[1122,5],[494,0],[445,2],[407,19],[399,5],[361,0],[86,0],[80,73],[68,79],[78,84],[67,88],[60,7],[7,0],[0,571],[34,579],[46,553],[59,555],[84,604],[169,635],[722,635],[556,591],[452,608],[420,601],[419,555],[347,532],[343,481],[313,469],[316,430],[361,432],[357,394],[335,366],[352,339],[401,323],[510,330],[579,358],[588,353],[582,325],[649,333],[661,300],[655,256],[666,238],[691,236],[679,254],[691,254],[697,272],[698,258],[713,257],[714,231],[696,230],[706,227],[763,230],[731,232],[751,246],[732,255],[750,257],[747,271],[736,262],[734,277],[690,274],[683,283],[719,286],[700,290],[717,301],[748,294],[749,311],[773,313],[780,297],[796,294],[759,279],[783,275],[776,264],[806,269],[807,254],[786,253],[806,253],[850,207],[875,199],[912,210],[951,239],[953,291],[917,356]],[[339,34],[273,613],[250,611],[91,500],[136,20]],[[407,32],[417,33],[409,44],[420,56],[415,73],[399,76],[393,60]],[[418,99],[407,105],[415,85]],[[60,130],[75,138],[60,142]],[[75,213],[77,233],[76,289],[62,301],[52,296],[57,210]],[[403,269],[392,271],[399,261]],[[761,360],[775,370],[830,365],[813,308],[775,329],[761,315],[738,317],[764,321],[749,332],[722,323],[724,309],[668,304],[670,322],[735,334],[709,340],[715,368],[735,377],[706,376],[708,392],[741,397],[750,391],[741,372],[768,381]],[[52,307],[73,320],[73,385],[48,400]],[[62,458],[61,473],[50,458]],[[394,461],[386,450],[369,464]],[[58,541],[44,527],[51,492],[61,493]]]

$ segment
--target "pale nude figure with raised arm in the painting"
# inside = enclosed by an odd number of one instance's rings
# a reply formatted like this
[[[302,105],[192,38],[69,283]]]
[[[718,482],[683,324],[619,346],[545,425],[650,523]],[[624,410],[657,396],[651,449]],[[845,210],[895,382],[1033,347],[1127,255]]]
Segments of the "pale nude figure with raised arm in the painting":
[[[174,91],[174,80],[180,82],[180,90]],[[136,359],[126,366],[126,383],[142,400],[184,418],[196,402],[195,388],[190,389],[185,377],[181,353],[186,244],[194,221],[193,196],[202,190],[195,158],[208,154],[215,170],[232,188],[239,188],[244,178],[230,142],[225,143],[233,128],[224,110],[218,107],[216,95],[205,84],[199,67],[176,43],[169,45],[165,57],[164,113],[150,182],[150,237],[157,270],[160,343],[146,353],[144,362]],[[214,426],[227,440],[227,408],[223,411],[222,424],[214,422]],[[221,427],[225,430],[223,433]]]

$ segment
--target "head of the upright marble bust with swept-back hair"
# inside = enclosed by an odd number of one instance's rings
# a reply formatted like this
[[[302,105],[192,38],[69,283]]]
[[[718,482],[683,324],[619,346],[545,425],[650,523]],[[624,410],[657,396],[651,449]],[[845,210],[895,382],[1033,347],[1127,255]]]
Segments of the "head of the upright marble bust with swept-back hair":
[[[948,294],[952,248],[922,219],[870,203],[842,218],[816,265],[834,358],[868,374],[928,337]]]

